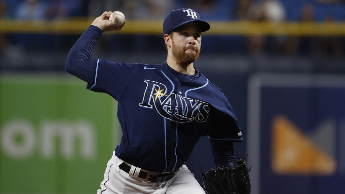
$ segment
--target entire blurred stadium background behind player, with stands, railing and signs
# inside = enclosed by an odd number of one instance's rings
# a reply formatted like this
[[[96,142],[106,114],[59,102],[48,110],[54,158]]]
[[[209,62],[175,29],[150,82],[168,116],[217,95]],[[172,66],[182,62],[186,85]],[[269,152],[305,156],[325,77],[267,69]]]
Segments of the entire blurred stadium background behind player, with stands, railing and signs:
[[[345,191],[344,0],[0,0],[0,194],[91,194],[119,143],[117,104],[65,72],[103,11],[126,26],[93,58],[161,64],[162,21],[189,7],[211,29],[195,62],[242,125],[252,194]],[[213,167],[207,137],[187,166]],[[200,182],[201,183],[201,182]]]

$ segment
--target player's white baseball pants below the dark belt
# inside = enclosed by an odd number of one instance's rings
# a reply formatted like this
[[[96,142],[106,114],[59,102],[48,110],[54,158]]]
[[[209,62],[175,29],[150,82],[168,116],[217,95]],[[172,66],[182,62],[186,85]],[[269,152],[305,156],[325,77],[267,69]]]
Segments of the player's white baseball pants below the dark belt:
[[[119,168],[123,162],[113,153],[97,194],[205,194],[186,165],[182,165],[169,181],[152,183],[130,177]]]

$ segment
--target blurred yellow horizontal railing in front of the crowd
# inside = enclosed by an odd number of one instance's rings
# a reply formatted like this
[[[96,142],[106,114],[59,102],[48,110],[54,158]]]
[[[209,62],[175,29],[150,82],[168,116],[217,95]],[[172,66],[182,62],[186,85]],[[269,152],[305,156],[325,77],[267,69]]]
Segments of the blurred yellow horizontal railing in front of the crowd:
[[[66,21],[0,20],[0,33],[81,34],[92,23],[88,19]],[[345,36],[345,22],[240,22],[210,21],[205,35],[288,35],[288,36]],[[119,34],[162,35],[163,21],[127,20]]]

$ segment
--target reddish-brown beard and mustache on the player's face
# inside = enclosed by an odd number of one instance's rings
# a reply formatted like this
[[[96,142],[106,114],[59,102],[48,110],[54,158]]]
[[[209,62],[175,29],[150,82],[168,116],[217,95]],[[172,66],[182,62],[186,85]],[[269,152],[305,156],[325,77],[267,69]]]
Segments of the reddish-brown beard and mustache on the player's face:
[[[184,46],[183,48],[177,47],[172,41],[172,56],[175,58],[177,64],[189,65],[192,62],[196,61],[200,54],[200,49],[195,45]],[[193,49],[195,52],[188,52],[186,50]]]

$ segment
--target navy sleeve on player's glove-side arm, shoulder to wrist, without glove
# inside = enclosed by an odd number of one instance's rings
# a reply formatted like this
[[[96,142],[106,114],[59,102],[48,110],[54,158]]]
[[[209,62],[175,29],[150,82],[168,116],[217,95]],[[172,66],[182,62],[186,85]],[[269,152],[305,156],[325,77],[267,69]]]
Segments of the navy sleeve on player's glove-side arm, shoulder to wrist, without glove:
[[[233,166],[234,142],[242,141],[241,128],[233,108],[219,89],[217,96],[219,99],[212,107],[212,127],[209,131],[213,161],[216,167]]]

